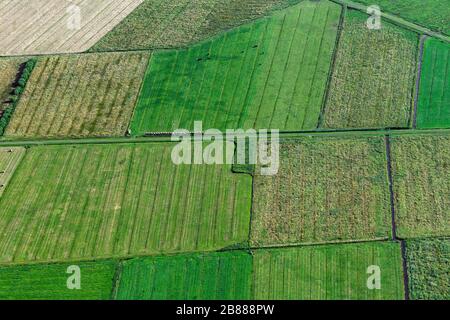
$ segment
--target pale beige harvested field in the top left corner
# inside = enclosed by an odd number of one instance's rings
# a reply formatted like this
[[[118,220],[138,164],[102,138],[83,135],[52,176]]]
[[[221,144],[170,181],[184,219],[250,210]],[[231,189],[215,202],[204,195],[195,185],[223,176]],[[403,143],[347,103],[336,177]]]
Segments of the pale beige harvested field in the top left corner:
[[[4,0],[0,3],[0,55],[86,51],[142,1]]]

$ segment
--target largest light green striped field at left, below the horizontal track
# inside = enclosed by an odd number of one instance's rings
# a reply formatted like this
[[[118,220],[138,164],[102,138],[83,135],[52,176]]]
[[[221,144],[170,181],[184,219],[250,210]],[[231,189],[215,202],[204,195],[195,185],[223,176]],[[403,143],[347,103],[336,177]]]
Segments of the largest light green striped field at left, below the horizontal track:
[[[228,165],[176,166],[172,147],[28,149],[0,198],[0,263],[207,251],[245,242],[251,177]]]

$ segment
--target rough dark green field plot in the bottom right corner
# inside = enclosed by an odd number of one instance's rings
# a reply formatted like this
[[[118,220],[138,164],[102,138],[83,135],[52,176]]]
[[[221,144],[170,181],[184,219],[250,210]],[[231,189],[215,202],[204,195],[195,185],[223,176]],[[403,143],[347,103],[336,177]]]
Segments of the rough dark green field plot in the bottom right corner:
[[[411,299],[450,299],[450,239],[407,241]]]

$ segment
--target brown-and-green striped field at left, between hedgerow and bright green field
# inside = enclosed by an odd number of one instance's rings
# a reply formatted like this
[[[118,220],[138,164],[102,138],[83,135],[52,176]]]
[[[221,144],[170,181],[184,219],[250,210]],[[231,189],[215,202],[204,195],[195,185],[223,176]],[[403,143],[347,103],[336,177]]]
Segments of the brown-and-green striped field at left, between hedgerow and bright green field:
[[[6,135],[125,135],[148,59],[148,53],[82,54],[40,59]]]

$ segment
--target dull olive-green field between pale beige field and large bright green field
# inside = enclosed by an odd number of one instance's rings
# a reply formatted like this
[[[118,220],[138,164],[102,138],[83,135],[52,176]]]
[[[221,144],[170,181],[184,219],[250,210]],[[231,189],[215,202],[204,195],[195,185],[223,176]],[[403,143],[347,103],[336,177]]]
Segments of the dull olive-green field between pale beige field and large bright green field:
[[[177,48],[299,1],[144,0],[91,50]]]

